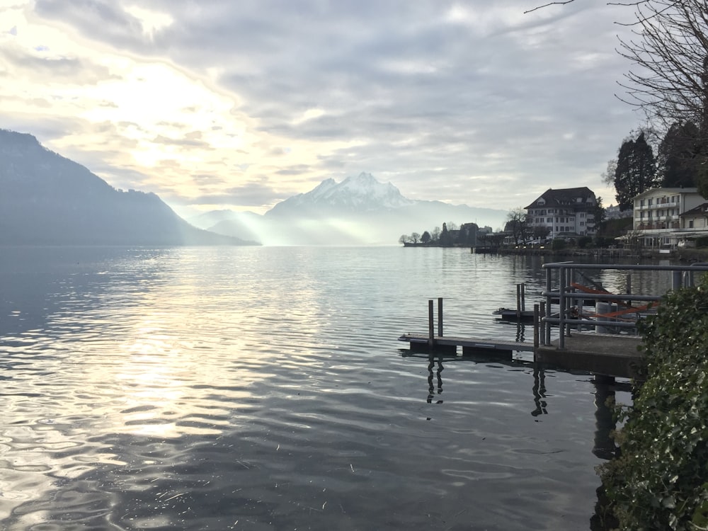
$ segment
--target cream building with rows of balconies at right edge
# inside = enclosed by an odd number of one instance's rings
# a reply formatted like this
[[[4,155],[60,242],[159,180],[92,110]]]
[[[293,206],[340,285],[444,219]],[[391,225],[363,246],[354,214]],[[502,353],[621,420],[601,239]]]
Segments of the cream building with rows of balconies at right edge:
[[[676,245],[700,232],[705,201],[697,188],[646,190],[634,197],[634,232],[645,246]]]

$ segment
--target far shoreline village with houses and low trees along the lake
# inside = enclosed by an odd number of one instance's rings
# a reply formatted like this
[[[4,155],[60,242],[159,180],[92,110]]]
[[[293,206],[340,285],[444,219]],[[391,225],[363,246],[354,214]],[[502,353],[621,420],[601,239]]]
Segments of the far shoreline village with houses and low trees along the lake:
[[[632,207],[603,207],[593,190],[549,188],[525,207],[511,210],[502,231],[475,223],[403,235],[404,246],[476,249],[568,247],[674,250],[708,246],[708,202],[697,188],[651,188],[632,198]]]

